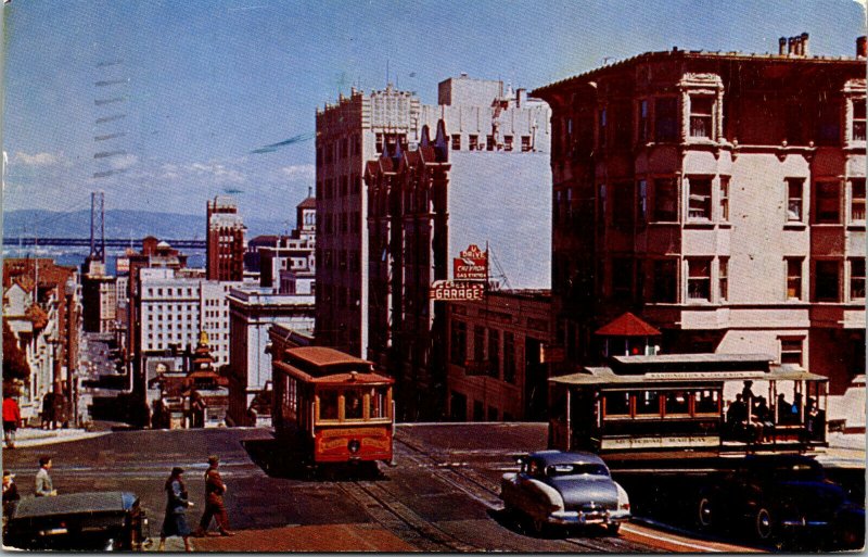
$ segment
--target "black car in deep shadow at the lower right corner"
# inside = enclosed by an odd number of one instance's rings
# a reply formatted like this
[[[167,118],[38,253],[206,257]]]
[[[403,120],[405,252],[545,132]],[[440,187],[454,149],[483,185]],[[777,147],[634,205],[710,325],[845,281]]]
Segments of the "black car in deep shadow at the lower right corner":
[[[751,455],[700,494],[702,529],[745,528],[762,542],[786,543],[802,534],[860,547],[865,507],[826,478],[805,455]]]

